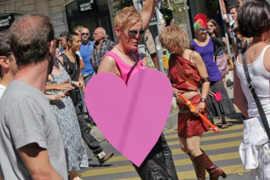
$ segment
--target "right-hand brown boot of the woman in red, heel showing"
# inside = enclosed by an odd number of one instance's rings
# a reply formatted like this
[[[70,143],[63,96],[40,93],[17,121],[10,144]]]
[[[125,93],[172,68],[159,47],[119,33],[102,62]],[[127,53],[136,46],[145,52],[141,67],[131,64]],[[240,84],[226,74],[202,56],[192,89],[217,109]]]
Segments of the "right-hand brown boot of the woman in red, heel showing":
[[[205,153],[202,149],[200,150]],[[217,180],[220,176],[222,176],[223,179],[227,177],[227,174],[225,174],[222,169],[213,164],[207,154],[205,154],[205,169],[209,173],[210,180]]]

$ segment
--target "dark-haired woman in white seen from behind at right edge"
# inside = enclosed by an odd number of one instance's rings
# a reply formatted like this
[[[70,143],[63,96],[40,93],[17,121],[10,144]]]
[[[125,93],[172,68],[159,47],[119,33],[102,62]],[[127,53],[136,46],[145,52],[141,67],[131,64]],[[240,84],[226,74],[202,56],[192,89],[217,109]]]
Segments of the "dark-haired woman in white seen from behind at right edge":
[[[236,63],[249,116],[244,121],[244,139],[239,154],[244,169],[251,169],[252,179],[269,179],[270,140],[269,133],[266,133],[269,132],[270,123],[269,3],[265,0],[247,2],[240,7],[237,21],[239,33],[247,38],[253,37],[247,51],[244,49],[238,55]],[[252,82],[252,85],[248,82]]]

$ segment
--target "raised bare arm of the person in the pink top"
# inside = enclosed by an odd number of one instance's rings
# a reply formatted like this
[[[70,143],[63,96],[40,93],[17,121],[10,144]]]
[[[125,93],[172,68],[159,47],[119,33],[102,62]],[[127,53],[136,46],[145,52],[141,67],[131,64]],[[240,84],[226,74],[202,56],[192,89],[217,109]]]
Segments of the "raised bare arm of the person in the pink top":
[[[141,18],[143,19],[143,29],[146,31],[148,24],[156,11],[157,0],[146,0],[141,10]]]

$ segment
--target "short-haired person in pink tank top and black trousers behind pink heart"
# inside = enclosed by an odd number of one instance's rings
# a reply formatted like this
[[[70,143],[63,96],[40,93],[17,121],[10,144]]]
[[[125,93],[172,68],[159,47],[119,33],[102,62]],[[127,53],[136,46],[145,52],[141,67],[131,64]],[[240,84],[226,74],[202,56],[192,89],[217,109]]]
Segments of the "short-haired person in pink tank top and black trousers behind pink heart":
[[[127,84],[132,75],[146,68],[139,59],[138,45],[156,9],[156,0],[146,0],[141,14],[134,7],[126,7],[114,18],[115,33],[119,42],[107,52],[97,73],[118,75]],[[141,166],[134,164],[141,179],[178,179],[165,137],[156,142]]]

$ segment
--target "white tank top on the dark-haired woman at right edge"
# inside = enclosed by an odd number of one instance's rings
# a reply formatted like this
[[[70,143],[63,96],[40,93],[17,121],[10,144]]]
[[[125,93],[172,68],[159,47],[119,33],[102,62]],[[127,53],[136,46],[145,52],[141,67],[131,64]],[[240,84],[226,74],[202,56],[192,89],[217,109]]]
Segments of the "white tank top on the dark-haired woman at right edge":
[[[254,88],[257,92],[257,96],[261,102],[262,107],[264,108],[264,112],[266,115],[270,115],[270,73],[264,68],[264,53],[267,48],[270,46],[266,46],[263,51],[261,51],[261,55],[255,60],[253,63],[247,65],[249,69],[249,76],[252,80]],[[239,63],[237,58],[236,65],[237,75],[239,80],[241,81],[242,90],[244,95],[247,97],[248,102],[248,114],[249,117],[259,117],[259,112],[257,110],[256,102],[254,101],[254,97],[252,92],[247,87],[247,79],[244,75],[244,70],[242,64]]]

